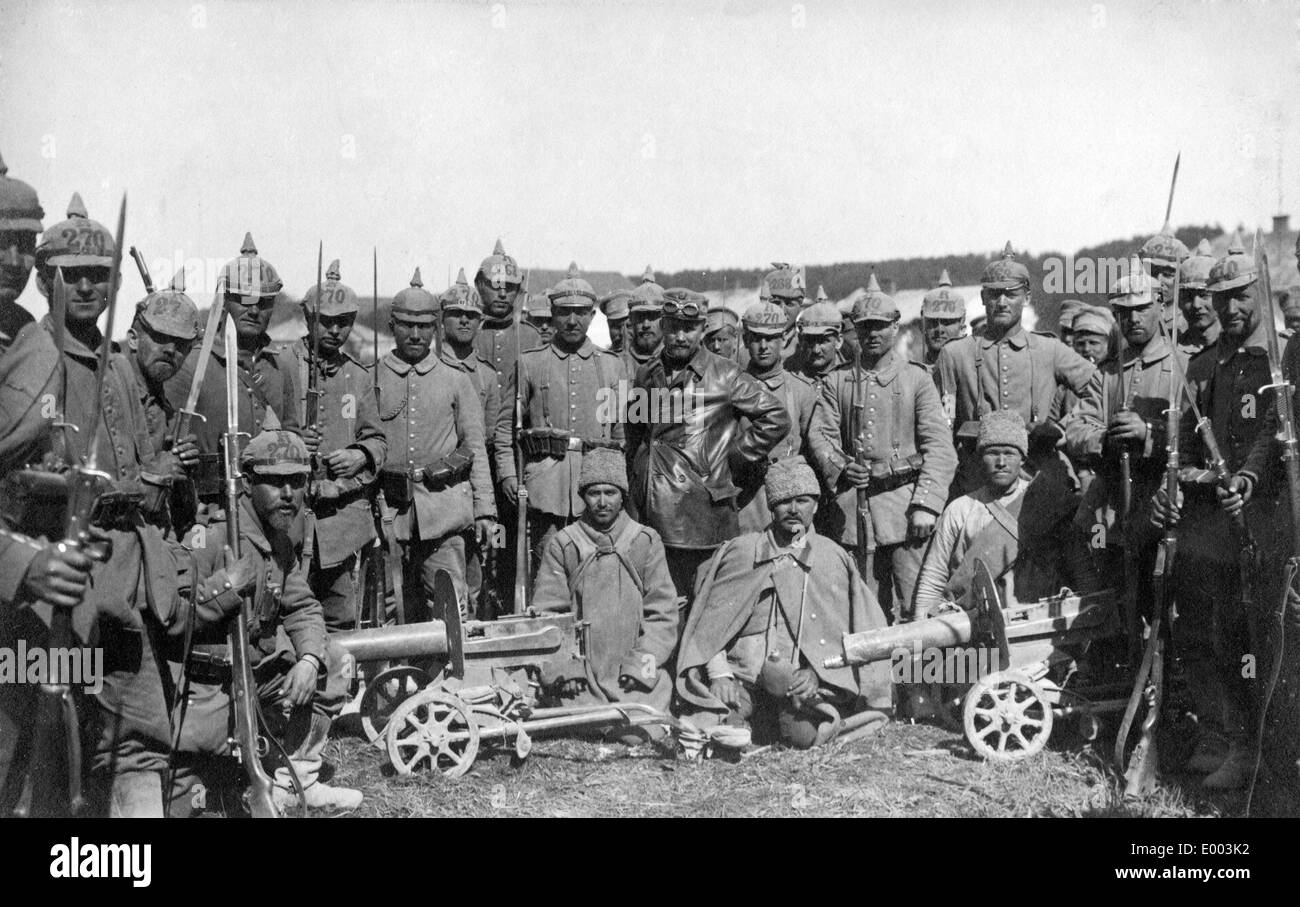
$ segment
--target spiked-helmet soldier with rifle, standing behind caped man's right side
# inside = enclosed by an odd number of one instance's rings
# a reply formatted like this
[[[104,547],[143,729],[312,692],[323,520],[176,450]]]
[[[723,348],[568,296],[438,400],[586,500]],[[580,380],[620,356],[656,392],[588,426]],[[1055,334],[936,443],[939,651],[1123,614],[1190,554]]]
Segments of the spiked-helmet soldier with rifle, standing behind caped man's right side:
[[[872,274],[853,307],[861,364],[827,379],[809,438],[833,495],[819,531],[854,551],[887,613],[910,620],[916,574],[948,500],[957,454],[930,372],[894,350],[900,317]],[[866,526],[858,525],[859,489],[867,494]]]

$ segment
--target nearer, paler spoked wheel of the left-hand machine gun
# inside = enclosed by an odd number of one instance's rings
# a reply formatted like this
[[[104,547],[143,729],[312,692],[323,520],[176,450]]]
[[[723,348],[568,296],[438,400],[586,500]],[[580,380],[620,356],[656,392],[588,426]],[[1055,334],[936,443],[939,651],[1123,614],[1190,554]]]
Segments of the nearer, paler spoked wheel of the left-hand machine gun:
[[[458,696],[425,690],[398,706],[386,732],[389,761],[398,774],[429,768],[460,777],[478,755],[478,721]]]

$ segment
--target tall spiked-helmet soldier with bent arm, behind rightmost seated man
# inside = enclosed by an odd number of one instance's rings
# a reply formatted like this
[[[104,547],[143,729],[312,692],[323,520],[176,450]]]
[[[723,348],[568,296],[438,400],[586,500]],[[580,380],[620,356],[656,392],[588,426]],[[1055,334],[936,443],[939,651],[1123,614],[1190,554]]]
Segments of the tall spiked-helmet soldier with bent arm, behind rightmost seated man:
[[[1062,433],[1062,390],[1082,395],[1095,370],[1092,363],[1046,331],[1020,324],[1032,303],[1030,269],[1017,261],[1011,244],[1002,249],[980,277],[980,299],[987,322],[980,335],[952,340],[935,361],[935,381],[944,411],[958,439],[957,485],[953,494],[974,491],[983,483],[970,443],[979,418],[989,409],[1015,409],[1030,430],[1028,468],[1062,466],[1057,444]]]

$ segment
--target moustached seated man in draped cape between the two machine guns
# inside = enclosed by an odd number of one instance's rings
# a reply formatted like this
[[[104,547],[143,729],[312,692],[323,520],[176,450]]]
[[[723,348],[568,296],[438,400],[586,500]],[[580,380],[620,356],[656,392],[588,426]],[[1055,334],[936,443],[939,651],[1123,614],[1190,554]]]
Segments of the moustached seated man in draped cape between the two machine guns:
[[[887,664],[826,668],[844,633],[885,626],[853,556],[812,530],[820,487],[803,457],[768,468],[772,524],[719,548],[681,638],[677,694],[698,725],[750,726],[755,741],[807,748],[846,716],[884,722]]]

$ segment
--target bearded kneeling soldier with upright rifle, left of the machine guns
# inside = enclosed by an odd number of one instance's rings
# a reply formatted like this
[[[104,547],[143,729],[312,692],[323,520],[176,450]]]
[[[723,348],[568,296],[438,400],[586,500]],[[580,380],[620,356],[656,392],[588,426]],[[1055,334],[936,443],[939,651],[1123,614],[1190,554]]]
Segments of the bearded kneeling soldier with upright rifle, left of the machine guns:
[[[278,428],[278,426],[277,426]],[[307,582],[302,559],[303,498],[311,473],[306,442],[292,431],[266,429],[254,438],[240,457],[244,472],[239,502],[242,557],[222,565],[226,526],[213,521],[205,544],[194,551],[199,574],[208,580],[198,589],[200,602],[214,602],[228,613],[238,599],[254,599],[248,626],[250,659],[263,715],[290,754],[292,767],[276,769],[277,806],[290,808],[298,798],[292,774],[303,786],[307,806],[350,810],[361,803],[358,790],[332,787],[318,780],[321,754],[330,722],[347,698],[342,650],[325,638],[321,603]],[[230,656],[225,638],[230,624],[195,634],[188,659],[188,695],[178,704],[177,781],[172,802],[185,795],[196,777],[195,756],[230,754],[234,726],[230,707]],[[179,652],[173,652],[173,676],[181,680]],[[244,752],[244,759],[256,758]]]

